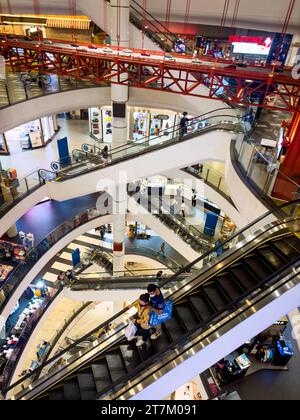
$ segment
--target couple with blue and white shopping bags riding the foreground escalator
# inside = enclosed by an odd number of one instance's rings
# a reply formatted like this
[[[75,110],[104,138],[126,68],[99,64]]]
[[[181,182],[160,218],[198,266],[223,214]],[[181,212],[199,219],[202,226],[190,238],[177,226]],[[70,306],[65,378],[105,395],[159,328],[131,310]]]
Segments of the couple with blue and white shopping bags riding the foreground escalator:
[[[143,346],[149,336],[151,340],[157,340],[162,333],[161,325],[155,327],[150,326],[151,311],[157,314],[162,313],[165,309],[166,302],[161,290],[155,284],[149,284],[147,293],[142,294],[136,303],[137,314],[131,321],[136,326],[136,345],[138,347]]]

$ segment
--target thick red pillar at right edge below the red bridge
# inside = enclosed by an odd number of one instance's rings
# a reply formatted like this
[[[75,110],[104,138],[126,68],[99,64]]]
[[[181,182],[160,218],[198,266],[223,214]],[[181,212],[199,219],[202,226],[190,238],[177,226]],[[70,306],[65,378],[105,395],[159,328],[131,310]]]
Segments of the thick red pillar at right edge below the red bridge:
[[[280,167],[280,172],[273,190],[274,197],[282,200],[300,198],[296,184],[300,185],[300,112],[295,113],[287,133],[289,147]]]

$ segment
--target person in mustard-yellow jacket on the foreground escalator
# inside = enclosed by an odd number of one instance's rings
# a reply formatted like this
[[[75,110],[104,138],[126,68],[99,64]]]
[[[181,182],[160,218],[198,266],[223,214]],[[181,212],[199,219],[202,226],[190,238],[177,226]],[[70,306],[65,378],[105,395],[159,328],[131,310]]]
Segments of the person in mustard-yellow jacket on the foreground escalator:
[[[151,305],[150,305],[150,296],[146,293],[144,295],[141,295],[139,298],[138,303],[136,304],[137,308],[137,316],[135,319],[132,320],[132,322],[137,327],[136,335],[137,337],[141,337],[136,345],[137,347],[143,346],[150,335],[150,325],[149,325],[149,319],[150,319],[150,311],[151,311]]]

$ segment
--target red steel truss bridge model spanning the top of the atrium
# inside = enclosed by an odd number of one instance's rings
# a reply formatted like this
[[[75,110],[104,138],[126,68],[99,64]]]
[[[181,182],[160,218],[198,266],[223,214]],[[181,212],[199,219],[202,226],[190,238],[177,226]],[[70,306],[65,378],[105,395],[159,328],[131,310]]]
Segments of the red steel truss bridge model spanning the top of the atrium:
[[[116,83],[199,98],[300,112],[300,80],[291,69],[226,65],[223,61],[196,61],[190,56],[165,56],[142,50],[118,51],[64,41],[29,42],[0,35],[0,54],[13,71],[38,71],[94,82]],[[86,45],[87,47],[87,45]],[[222,92],[222,97],[218,93]],[[270,102],[270,95],[277,97]]]

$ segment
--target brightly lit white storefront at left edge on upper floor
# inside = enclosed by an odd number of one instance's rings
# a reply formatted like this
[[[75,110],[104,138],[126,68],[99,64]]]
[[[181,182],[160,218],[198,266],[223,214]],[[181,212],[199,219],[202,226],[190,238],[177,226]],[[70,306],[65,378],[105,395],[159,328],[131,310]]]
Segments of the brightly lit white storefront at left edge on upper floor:
[[[58,131],[55,115],[30,121],[0,135],[0,154],[15,154],[45,147]]]

